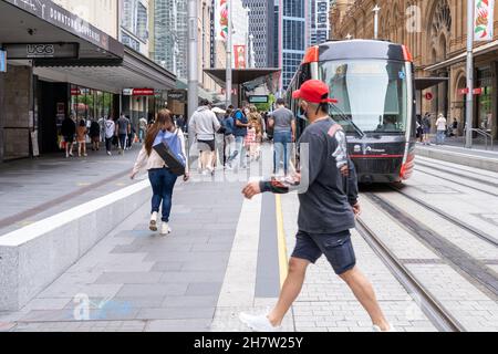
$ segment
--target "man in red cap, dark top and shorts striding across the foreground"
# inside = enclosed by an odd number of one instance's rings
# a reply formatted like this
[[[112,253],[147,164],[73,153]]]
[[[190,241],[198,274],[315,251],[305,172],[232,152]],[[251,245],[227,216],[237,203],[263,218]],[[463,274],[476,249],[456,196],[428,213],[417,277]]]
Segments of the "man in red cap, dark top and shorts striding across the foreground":
[[[295,184],[286,181],[250,183],[242,190],[251,199],[260,192],[299,192],[299,231],[295,249],[289,262],[289,274],[279,301],[267,315],[240,314],[240,320],[258,332],[276,331],[286,313],[301,292],[310,263],[323,254],[335,273],[351,288],[356,299],[369,312],[376,332],[393,331],[388,324],[372,284],[356,267],[350,230],[355,228],[360,214],[357,180],[354,165],[347,156],[345,134],[329,116],[329,86],[318,80],[307,81],[293,93],[309,121],[300,140],[300,170]]]

